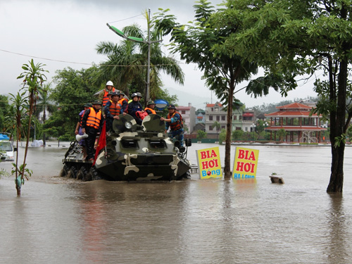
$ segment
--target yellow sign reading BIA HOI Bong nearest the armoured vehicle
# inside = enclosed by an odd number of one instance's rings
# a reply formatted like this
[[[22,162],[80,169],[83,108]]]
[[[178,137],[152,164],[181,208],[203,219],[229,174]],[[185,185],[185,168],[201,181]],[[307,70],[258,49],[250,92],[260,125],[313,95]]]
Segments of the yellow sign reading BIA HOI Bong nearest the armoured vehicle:
[[[199,149],[196,151],[196,154],[200,179],[222,177],[218,146],[210,149]]]

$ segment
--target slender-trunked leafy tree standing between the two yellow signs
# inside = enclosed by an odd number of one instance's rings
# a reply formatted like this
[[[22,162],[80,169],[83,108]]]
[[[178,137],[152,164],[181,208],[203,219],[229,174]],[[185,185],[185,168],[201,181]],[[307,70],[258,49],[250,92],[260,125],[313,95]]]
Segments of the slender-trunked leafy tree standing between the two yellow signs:
[[[231,129],[232,129],[232,102],[234,91],[239,82],[248,80],[252,74],[257,73],[256,63],[230,54],[226,50],[216,50],[230,34],[237,32],[236,21],[234,25],[217,27],[218,18],[213,6],[205,0],[200,0],[194,6],[195,20],[188,25],[176,22],[174,15],[168,15],[168,10],[161,11],[154,16],[159,34],[171,34],[173,53],[179,53],[186,63],[196,63],[203,70],[203,79],[210,90],[221,99],[227,107],[227,127],[225,142],[225,178],[231,177]]]

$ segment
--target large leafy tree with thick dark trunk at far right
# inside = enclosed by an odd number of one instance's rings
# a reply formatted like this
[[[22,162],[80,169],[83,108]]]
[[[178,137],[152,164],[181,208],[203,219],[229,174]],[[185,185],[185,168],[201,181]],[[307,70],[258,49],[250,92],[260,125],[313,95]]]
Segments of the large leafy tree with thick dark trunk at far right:
[[[228,0],[226,26],[241,23],[219,49],[227,49],[286,80],[298,75],[326,74],[317,80],[317,113],[329,115],[332,167],[327,192],[342,192],[345,133],[352,118],[348,66],[352,60],[352,5],[349,0]],[[219,24],[221,26],[221,24]],[[290,82],[293,83],[293,82]],[[287,94],[294,85],[280,87]]]

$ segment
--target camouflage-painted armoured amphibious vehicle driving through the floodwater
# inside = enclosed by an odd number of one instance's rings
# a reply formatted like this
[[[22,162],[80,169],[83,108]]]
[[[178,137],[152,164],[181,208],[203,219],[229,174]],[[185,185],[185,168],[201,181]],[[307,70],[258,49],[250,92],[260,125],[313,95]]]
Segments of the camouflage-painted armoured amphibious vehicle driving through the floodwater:
[[[94,165],[83,160],[80,144],[71,142],[60,175],[115,181],[190,178],[187,148],[191,140],[185,141],[186,147],[172,141],[165,134],[165,122],[160,118],[147,115],[142,125],[137,125],[131,115],[120,115],[119,120],[113,121],[113,129],[106,136],[106,148],[99,152]]]

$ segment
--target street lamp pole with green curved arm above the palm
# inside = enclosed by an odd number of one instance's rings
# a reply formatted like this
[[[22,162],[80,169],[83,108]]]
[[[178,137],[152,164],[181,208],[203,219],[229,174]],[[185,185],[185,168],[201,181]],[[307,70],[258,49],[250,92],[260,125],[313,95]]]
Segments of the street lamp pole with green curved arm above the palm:
[[[151,17],[151,9],[148,9],[148,17],[146,18],[147,23],[148,23],[148,40],[144,40],[139,37],[127,37],[124,32],[121,30],[118,30],[116,27],[109,25],[106,23],[106,25],[113,30],[116,34],[118,34],[120,37],[123,37],[124,39],[130,40],[131,42],[142,42],[148,44],[148,65],[147,65],[147,73],[146,73],[146,101],[148,101],[149,98],[149,90],[150,90],[150,70],[151,70],[151,44],[157,43],[157,42],[162,42],[163,39],[161,40],[154,40],[151,41],[151,27],[150,27],[150,17]]]

